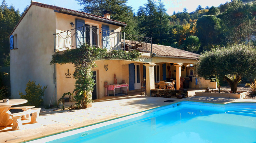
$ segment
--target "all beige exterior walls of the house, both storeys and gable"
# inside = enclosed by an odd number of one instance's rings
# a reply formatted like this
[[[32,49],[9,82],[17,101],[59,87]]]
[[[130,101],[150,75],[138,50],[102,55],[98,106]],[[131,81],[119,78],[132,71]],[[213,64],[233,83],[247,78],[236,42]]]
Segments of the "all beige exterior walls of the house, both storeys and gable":
[[[57,100],[63,93],[73,92],[75,79],[73,78],[74,67],[71,64],[56,64],[49,65],[52,55],[54,54],[54,38],[53,33],[58,33],[72,29],[70,22],[75,23],[75,19],[83,19],[87,23],[98,25],[102,28],[102,24],[109,25],[110,31],[120,31],[120,26],[110,25],[103,22],[88,20],[85,18],[71,16],[67,14],[54,12],[52,9],[32,5],[15,29],[13,35],[17,34],[17,47],[18,49],[10,50],[11,54],[11,93],[12,98],[20,98],[18,91],[24,93],[26,84],[29,79],[41,83],[41,85],[48,85],[45,91],[44,105],[49,105],[49,100],[54,95],[53,103],[56,104]],[[75,28],[75,27],[73,27]],[[99,37],[101,41],[101,37]],[[14,44],[15,45],[15,44]],[[102,98],[105,95],[103,87],[104,81],[108,84],[114,84],[114,74],[116,74],[117,83],[122,83],[125,80],[129,84],[129,64],[140,64],[140,81],[143,81],[143,63],[150,63],[150,65],[159,64],[160,66],[160,80],[162,80],[162,64],[169,63],[184,64],[197,62],[191,59],[181,58],[166,58],[166,57],[153,57],[153,59],[140,59],[137,62],[124,61],[124,60],[101,60],[95,61],[98,67],[93,70],[97,71],[97,98]],[[108,70],[104,69],[104,65],[108,65]],[[54,71],[55,67],[55,71]],[[65,73],[71,73],[71,78],[66,78]],[[146,73],[154,71],[152,68]],[[172,66],[172,78],[176,77],[173,72],[175,66]],[[56,90],[54,84],[54,72],[56,76]],[[166,69],[166,77],[168,77],[168,70]],[[181,72],[181,76],[186,76],[186,70]],[[151,75],[151,80],[154,75]],[[153,86],[153,82],[152,86]],[[119,91],[116,91],[118,93]]]

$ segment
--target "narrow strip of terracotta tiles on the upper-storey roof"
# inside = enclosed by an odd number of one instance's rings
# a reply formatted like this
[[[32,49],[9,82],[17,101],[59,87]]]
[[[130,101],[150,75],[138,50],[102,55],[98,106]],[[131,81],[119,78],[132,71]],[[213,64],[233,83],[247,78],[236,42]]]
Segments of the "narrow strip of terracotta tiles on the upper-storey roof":
[[[68,11],[72,11],[72,12],[77,12],[77,13],[81,13],[81,14],[85,14],[85,15],[90,15],[90,16],[94,16],[94,17],[98,17],[98,18],[107,19],[107,20],[111,20],[111,21],[114,21],[114,22],[126,24],[125,22],[121,22],[121,21],[105,18],[105,17],[102,17],[102,16],[98,16],[98,15],[94,15],[94,14],[89,14],[89,13],[85,13],[85,12],[80,12],[80,11],[75,11],[75,10],[70,10],[70,9],[66,9],[66,8],[63,8],[63,7],[49,5],[49,4],[44,4],[44,3],[40,3],[40,2],[31,1],[31,5],[37,5],[37,6],[40,6],[40,7],[45,7],[45,8],[53,9],[53,10],[56,10],[56,11],[68,10]]]

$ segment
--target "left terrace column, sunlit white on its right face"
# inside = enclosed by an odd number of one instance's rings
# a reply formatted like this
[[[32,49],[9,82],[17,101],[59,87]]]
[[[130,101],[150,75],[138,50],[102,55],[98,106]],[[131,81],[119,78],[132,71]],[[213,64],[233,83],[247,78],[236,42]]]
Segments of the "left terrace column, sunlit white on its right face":
[[[151,96],[151,89],[155,89],[155,63],[144,64],[146,67],[146,91],[147,96]]]

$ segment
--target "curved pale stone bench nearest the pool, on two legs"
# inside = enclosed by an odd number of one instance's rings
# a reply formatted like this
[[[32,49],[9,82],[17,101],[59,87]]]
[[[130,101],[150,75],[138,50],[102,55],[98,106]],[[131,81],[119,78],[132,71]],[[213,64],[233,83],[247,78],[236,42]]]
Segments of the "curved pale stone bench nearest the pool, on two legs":
[[[22,123],[20,123],[21,117],[24,115],[30,115],[31,113],[32,113],[32,116],[31,116],[30,123],[37,123],[37,118],[39,116],[40,110],[41,108],[32,108],[27,111],[10,114],[10,116],[13,119],[12,130],[18,130],[22,128]]]

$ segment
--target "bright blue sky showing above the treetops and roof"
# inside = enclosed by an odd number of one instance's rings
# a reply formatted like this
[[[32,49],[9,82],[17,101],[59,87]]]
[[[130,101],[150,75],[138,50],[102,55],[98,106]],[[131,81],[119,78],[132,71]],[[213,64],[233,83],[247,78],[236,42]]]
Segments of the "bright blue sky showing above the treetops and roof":
[[[30,0],[5,0],[7,4],[10,6],[14,5],[15,9],[19,9],[20,13],[22,13],[27,5],[30,5]],[[83,7],[77,4],[77,1],[74,0],[37,0],[41,3],[56,5],[60,7],[65,7],[67,9],[72,10],[80,10]],[[176,13],[178,11],[182,12],[184,7],[188,9],[188,12],[192,12],[196,10],[196,7],[200,4],[203,8],[206,6],[218,6],[221,3],[226,3],[226,1],[230,2],[231,0],[162,0],[165,8],[167,9],[167,13],[172,15],[173,11]],[[158,0],[156,0],[158,2]],[[139,6],[144,6],[147,3],[147,0],[128,0],[127,5],[131,5],[133,7],[134,12],[137,13]]]

